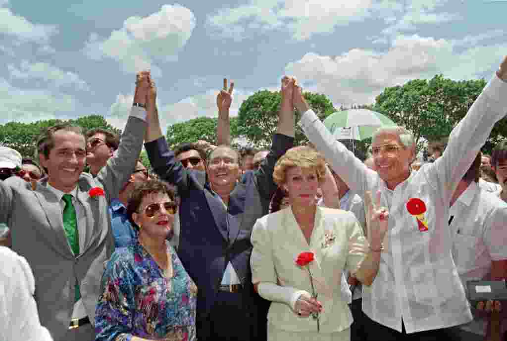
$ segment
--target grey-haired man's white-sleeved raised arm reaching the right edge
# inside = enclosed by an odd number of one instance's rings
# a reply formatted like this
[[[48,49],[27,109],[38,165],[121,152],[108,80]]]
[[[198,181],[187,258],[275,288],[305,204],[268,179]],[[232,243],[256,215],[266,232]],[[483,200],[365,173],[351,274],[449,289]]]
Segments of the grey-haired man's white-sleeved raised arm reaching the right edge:
[[[437,181],[430,184],[444,190],[450,202],[454,190],[486,142],[493,126],[507,113],[507,57],[470,107],[466,116],[452,130],[447,148],[434,163]]]

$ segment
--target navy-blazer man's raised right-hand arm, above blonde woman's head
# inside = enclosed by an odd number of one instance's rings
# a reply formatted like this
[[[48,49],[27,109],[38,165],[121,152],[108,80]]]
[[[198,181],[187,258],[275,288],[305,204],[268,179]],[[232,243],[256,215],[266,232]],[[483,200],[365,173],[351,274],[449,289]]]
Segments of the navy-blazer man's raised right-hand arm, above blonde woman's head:
[[[286,76],[282,79],[282,102],[280,112],[278,114],[278,127],[275,135],[273,136],[273,142],[268,156],[262,161],[259,170],[255,172],[259,193],[268,200],[271,200],[271,197],[275,193],[277,187],[273,181],[275,164],[278,159],[285,154],[285,151],[292,148],[294,145],[296,127],[294,122],[294,104],[292,97],[295,82],[296,80],[294,78]]]

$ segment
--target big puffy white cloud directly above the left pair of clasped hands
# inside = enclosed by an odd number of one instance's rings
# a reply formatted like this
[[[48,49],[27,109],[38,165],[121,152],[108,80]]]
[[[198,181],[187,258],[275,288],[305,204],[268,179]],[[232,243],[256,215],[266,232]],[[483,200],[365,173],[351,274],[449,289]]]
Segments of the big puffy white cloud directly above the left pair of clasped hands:
[[[162,72],[156,63],[177,60],[195,25],[195,16],[188,8],[164,5],[148,17],[127,18],[123,27],[107,39],[92,33],[85,53],[95,60],[114,59],[127,73],[151,69],[155,77],[160,77]]]

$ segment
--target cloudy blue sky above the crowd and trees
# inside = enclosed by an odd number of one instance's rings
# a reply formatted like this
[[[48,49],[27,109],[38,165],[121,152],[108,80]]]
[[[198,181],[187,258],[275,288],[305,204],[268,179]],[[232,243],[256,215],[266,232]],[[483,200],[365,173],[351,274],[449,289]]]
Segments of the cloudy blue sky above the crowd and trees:
[[[96,113],[123,128],[146,68],[164,127],[216,116],[224,77],[232,115],[284,74],[345,105],[438,73],[489,80],[505,13],[507,0],[0,0],[0,124]]]

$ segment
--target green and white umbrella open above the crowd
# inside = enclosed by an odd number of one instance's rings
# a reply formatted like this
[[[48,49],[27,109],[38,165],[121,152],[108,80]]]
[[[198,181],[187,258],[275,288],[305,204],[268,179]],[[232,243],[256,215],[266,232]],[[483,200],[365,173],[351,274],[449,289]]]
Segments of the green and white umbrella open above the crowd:
[[[323,123],[337,140],[358,141],[372,137],[379,127],[396,125],[380,112],[368,109],[336,111]]]

